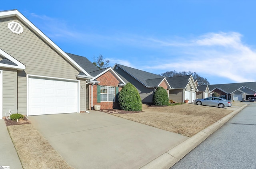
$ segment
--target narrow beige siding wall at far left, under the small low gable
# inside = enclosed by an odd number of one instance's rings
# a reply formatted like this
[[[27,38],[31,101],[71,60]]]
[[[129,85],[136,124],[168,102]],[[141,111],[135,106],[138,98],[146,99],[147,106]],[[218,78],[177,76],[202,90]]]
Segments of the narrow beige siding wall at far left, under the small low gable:
[[[17,113],[17,71],[14,69],[3,70],[3,117],[5,113],[9,115]]]

